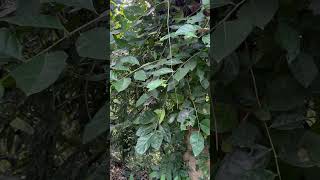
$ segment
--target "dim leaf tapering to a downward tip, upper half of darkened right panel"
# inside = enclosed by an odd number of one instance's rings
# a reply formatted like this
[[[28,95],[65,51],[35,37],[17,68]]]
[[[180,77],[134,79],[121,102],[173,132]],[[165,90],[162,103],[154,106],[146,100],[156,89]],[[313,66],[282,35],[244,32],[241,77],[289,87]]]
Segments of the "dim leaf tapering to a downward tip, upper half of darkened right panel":
[[[286,23],[279,23],[275,38],[279,45],[287,51],[287,60],[290,64],[300,53],[299,33]]]

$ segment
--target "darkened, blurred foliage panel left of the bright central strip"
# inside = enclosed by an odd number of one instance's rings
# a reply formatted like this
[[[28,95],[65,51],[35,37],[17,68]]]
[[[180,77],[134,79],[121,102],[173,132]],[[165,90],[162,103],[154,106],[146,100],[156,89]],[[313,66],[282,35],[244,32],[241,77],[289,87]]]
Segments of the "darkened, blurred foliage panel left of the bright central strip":
[[[104,179],[104,1],[0,1],[0,179]]]

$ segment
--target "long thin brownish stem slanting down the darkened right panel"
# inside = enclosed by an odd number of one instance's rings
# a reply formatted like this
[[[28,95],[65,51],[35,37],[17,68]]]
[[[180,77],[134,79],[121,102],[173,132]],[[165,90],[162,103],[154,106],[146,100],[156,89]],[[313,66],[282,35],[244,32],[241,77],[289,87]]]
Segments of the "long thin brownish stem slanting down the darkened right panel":
[[[258,102],[259,107],[261,108],[261,102],[259,100],[259,94],[258,94],[258,88],[257,88],[257,84],[256,84],[256,78],[254,76],[252,68],[250,68],[250,73],[251,73],[251,76],[252,76],[252,81],[253,81],[253,86],[254,86],[254,91],[255,91],[255,94],[256,94],[257,102]],[[280,172],[279,162],[278,162],[278,155],[277,155],[276,149],[274,148],[274,144],[273,144],[273,141],[272,141],[272,138],[271,138],[271,135],[270,135],[269,128],[268,128],[267,123],[265,121],[263,121],[263,124],[264,124],[264,127],[265,127],[266,131],[267,131],[268,139],[269,139],[269,142],[270,142],[270,145],[271,145],[271,148],[272,148],[272,152],[273,152],[273,156],[274,156],[274,159],[275,159],[275,164],[276,164],[279,180],[282,180],[281,179],[281,172]]]

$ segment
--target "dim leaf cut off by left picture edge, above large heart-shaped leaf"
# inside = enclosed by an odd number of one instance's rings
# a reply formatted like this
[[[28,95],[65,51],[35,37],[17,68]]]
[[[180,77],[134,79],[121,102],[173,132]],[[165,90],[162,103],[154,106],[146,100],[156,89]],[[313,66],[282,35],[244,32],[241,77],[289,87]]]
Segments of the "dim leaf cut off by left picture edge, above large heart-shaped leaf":
[[[23,59],[22,45],[7,28],[0,29],[0,53],[4,56]]]

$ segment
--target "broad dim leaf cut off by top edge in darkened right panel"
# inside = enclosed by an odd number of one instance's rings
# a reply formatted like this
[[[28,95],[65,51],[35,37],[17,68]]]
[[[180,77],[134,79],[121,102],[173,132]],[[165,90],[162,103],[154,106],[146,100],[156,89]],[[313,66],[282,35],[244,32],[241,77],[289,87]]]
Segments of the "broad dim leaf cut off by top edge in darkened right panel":
[[[278,6],[278,0],[247,1],[238,11],[238,17],[248,18],[253,26],[264,29],[275,15]]]

